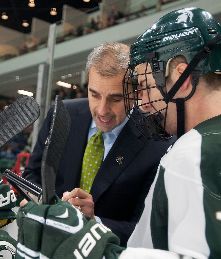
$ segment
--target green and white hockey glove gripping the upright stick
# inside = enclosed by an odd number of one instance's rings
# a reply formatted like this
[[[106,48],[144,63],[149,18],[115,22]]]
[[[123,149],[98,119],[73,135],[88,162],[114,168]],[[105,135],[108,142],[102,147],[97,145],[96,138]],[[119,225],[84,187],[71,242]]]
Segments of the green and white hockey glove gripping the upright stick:
[[[17,215],[16,259],[118,258],[119,238],[94,220],[87,220],[69,202],[55,195],[56,204],[20,207]],[[115,249],[116,248],[116,249]]]

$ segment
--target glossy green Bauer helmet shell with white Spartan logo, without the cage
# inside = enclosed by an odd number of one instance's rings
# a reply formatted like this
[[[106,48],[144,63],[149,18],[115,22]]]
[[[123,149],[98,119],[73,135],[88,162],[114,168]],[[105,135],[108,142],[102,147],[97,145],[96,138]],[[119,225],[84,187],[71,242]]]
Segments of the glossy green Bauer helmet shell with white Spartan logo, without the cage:
[[[199,8],[186,8],[168,13],[145,31],[131,46],[130,63],[147,62],[147,53],[156,52],[158,60],[166,63],[165,76],[168,75],[168,61],[183,55],[187,63],[204,48],[217,34],[221,26],[213,16]],[[202,60],[195,70],[199,75],[209,72],[221,73],[221,42],[212,53]]]

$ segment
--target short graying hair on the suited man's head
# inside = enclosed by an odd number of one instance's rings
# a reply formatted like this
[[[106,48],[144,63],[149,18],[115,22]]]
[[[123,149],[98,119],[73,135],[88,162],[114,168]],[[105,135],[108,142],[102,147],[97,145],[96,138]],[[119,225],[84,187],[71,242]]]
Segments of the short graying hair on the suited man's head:
[[[129,62],[130,46],[119,42],[101,44],[88,55],[86,76],[88,78],[91,66],[99,75],[112,77],[126,72]]]

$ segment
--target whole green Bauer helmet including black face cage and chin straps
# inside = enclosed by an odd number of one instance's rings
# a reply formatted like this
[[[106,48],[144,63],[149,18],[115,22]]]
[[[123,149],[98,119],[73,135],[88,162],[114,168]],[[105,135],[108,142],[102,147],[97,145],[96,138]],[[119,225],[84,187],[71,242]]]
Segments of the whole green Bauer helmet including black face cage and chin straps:
[[[168,13],[146,30],[130,49],[130,64],[123,79],[124,103],[127,116],[144,136],[154,140],[168,141],[166,117],[169,102],[177,106],[177,136],[184,134],[184,102],[195,92],[199,76],[221,73],[221,26],[213,16],[199,8],[185,8]],[[182,55],[188,66],[171,87],[166,88],[169,62]],[[145,63],[146,88],[139,89],[137,68]],[[148,70],[151,67],[151,72]],[[148,74],[152,74],[155,86],[162,98],[149,100],[155,110],[150,114],[142,109],[142,92],[149,96]],[[185,98],[173,99],[181,85],[192,74],[192,91]],[[165,107],[156,109],[156,102],[165,101]],[[165,115],[162,114],[165,113]]]

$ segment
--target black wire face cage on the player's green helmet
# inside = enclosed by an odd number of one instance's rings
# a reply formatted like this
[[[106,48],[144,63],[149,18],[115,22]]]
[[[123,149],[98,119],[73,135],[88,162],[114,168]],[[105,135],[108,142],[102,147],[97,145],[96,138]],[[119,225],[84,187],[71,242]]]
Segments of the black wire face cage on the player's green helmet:
[[[142,63],[129,65],[123,78],[124,105],[127,117],[146,138],[169,141],[172,136],[165,132],[168,104],[163,101],[163,97],[167,94],[164,62],[159,60],[148,61],[145,63],[146,69],[142,74],[138,74],[136,71],[139,64]],[[151,72],[147,71],[148,64],[151,67]],[[142,76],[142,88],[138,82],[139,76]],[[152,77],[151,84],[148,82],[150,77]],[[145,81],[143,80],[144,78]],[[162,98],[151,100],[150,91],[152,88],[157,88]],[[142,103],[142,96],[146,95],[144,91],[147,91],[148,102]],[[151,106],[152,113],[144,109],[144,106],[147,104]],[[158,110],[156,107],[160,107],[160,109]],[[164,110],[165,117],[161,113]]]

